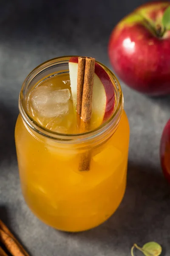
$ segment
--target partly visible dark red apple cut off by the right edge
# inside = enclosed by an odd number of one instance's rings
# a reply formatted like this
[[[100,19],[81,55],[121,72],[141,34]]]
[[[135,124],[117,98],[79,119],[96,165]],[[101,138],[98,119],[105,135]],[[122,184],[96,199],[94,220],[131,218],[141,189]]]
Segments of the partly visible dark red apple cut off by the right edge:
[[[164,127],[160,145],[161,166],[165,177],[170,182],[170,119]]]

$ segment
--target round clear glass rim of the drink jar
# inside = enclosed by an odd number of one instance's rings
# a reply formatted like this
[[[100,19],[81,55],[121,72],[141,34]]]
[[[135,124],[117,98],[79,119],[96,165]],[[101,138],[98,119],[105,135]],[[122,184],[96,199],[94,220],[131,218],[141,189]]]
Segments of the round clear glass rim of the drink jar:
[[[79,57],[77,55],[68,55],[68,56],[61,56],[57,58],[52,58],[48,61],[43,62],[34,70],[31,71],[31,73],[28,74],[26,79],[23,82],[23,85],[21,87],[20,96],[19,96],[19,110],[22,118],[26,122],[26,124],[32,128],[37,133],[41,134],[42,136],[48,137],[50,139],[57,140],[58,142],[64,143],[64,142],[71,142],[74,140],[75,143],[82,143],[82,141],[86,140],[93,140],[95,137],[99,137],[100,135],[104,134],[106,131],[112,131],[116,128],[118,125],[120,118],[122,116],[123,106],[124,106],[124,100],[123,100],[123,94],[122,89],[119,83],[119,80],[116,78],[116,76],[112,73],[112,71],[106,67],[104,64],[100,63],[99,61],[96,61],[98,64],[100,64],[102,67],[105,68],[108,75],[112,78],[114,82],[114,92],[116,97],[116,107],[114,108],[113,114],[111,117],[102,123],[99,127],[95,128],[94,130],[87,131],[80,134],[62,134],[55,131],[48,130],[47,128],[41,126],[39,123],[37,123],[29,114],[28,108],[26,107],[26,100],[24,96],[24,89],[30,82],[37,76],[42,70],[47,69],[48,67],[51,67],[51,65],[55,64],[63,64],[68,63],[69,59],[71,57]]]

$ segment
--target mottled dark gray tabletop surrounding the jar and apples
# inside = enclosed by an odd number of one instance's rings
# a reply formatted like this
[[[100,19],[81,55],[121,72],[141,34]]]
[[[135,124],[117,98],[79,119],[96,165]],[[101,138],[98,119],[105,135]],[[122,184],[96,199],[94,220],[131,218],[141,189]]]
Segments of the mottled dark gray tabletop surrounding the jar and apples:
[[[128,1],[96,5],[90,0],[0,3],[0,218],[32,256],[128,256],[133,243],[152,240],[170,255],[170,186],[159,163],[170,97],[153,99],[121,82],[130,122],[127,189],[116,213],[87,232],[56,231],[31,213],[21,194],[14,145],[17,99],[27,74],[43,61],[62,55],[94,56],[111,68],[110,32],[132,7],[144,2],[132,1],[132,6]]]

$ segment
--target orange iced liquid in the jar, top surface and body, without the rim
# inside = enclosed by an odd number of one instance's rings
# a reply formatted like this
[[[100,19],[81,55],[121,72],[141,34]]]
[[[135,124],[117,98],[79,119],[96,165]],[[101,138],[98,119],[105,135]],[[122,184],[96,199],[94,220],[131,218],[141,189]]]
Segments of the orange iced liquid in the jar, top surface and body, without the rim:
[[[32,90],[28,111],[49,130],[77,133],[69,75],[53,76]],[[95,126],[94,120],[91,129]],[[31,130],[20,115],[15,140],[24,198],[45,223],[65,231],[87,230],[108,219],[119,206],[126,186],[129,144],[125,111],[109,140],[95,147],[88,145],[88,172],[78,170],[85,149],[76,145],[62,147],[61,143]]]

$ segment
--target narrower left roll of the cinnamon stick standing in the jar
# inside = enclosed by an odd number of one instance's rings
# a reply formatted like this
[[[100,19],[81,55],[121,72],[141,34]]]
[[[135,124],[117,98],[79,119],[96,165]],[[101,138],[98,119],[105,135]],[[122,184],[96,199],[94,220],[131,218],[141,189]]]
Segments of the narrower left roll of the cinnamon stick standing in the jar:
[[[85,57],[78,58],[78,76],[77,76],[77,125],[80,126],[82,112],[82,92],[85,74]]]

